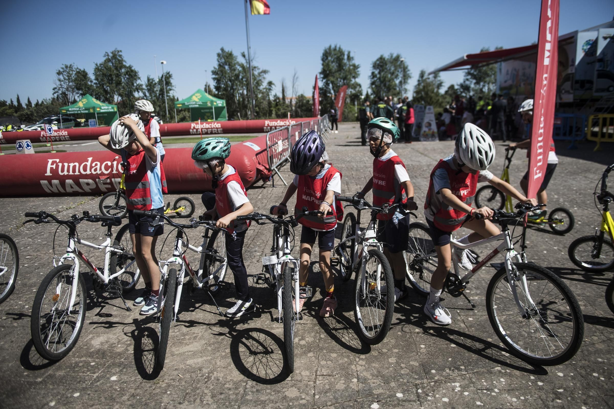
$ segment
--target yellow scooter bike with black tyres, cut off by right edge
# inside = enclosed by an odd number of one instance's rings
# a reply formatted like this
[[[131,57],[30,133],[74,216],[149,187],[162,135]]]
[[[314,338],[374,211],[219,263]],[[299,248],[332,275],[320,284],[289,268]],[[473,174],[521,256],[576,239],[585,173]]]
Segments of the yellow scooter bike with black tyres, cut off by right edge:
[[[601,228],[595,228],[595,234],[589,236],[578,237],[572,241],[567,250],[567,255],[572,263],[577,267],[580,267],[585,271],[607,271],[612,270],[614,267],[614,220],[610,214],[610,202],[614,199],[614,195],[608,192],[608,174],[614,169],[614,165],[608,166],[604,173],[601,175],[600,192],[597,193],[597,185],[593,195],[595,196],[595,207],[597,201],[604,207],[601,213]],[[608,233],[608,238],[605,237],[605,233]]]

